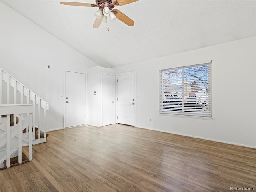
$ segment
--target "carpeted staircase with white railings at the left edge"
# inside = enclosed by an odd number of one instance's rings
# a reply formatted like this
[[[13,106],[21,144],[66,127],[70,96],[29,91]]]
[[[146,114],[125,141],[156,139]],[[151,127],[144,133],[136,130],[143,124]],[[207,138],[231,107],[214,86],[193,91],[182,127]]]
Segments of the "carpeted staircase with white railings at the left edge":
[[[10,167],[18,156],[22,163],[22,146],[46,142],[47,102],[0,68],[0,169]]]

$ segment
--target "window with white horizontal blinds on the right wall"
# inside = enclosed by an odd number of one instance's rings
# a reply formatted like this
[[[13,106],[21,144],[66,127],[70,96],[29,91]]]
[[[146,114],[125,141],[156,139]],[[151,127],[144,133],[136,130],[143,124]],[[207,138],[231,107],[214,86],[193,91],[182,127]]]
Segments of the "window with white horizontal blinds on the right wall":
[[[160,70],[159,112],[212,117],[211,88],[211,62]]]

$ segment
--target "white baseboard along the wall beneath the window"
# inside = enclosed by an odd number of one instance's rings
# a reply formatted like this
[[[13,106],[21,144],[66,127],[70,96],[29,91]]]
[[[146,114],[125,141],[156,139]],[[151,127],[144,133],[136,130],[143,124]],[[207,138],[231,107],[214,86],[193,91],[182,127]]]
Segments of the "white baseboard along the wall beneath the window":
[[[152,130],[152,131],[158,131],[158,132],[163,132],[163,133],[170,133],[170,134],[174,134],[174,135],[186,136],[186,137],[191,137],[191,138],[203,139],[203,140],[208,140],[208,141],[214,141],[214,142],[220,142],[220,143],[225,143],[225,144],[231,144],[231,145],[237,145],[237,146],[242,146],[242,147],[248,147],[248,148],[256,149],[256,146],[244,145],[244,144],[228,142],[228,141],[222,141],[222,140],[217,140],[217,139],[198,137],[198,136],[192,136],[192,135],[188,135],[188,134],[182,134],[182,133],[176,133],[176,132],[170,132],[170,131],[163,131],[163,130],[151,129],[151,128],[143,128],[143,127],[136,127],[136,128],[147,129],[147,130]]]

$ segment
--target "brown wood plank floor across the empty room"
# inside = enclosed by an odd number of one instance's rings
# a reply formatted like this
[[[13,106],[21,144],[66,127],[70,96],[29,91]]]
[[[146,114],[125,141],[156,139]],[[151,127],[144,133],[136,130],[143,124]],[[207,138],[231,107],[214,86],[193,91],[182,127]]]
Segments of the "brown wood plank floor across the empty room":
[[[49,132],[47,143],[33,146],[32,162],[0,171],[0,192],[230,192],[230,187],[256,191],[256,149],[120,124]]]

